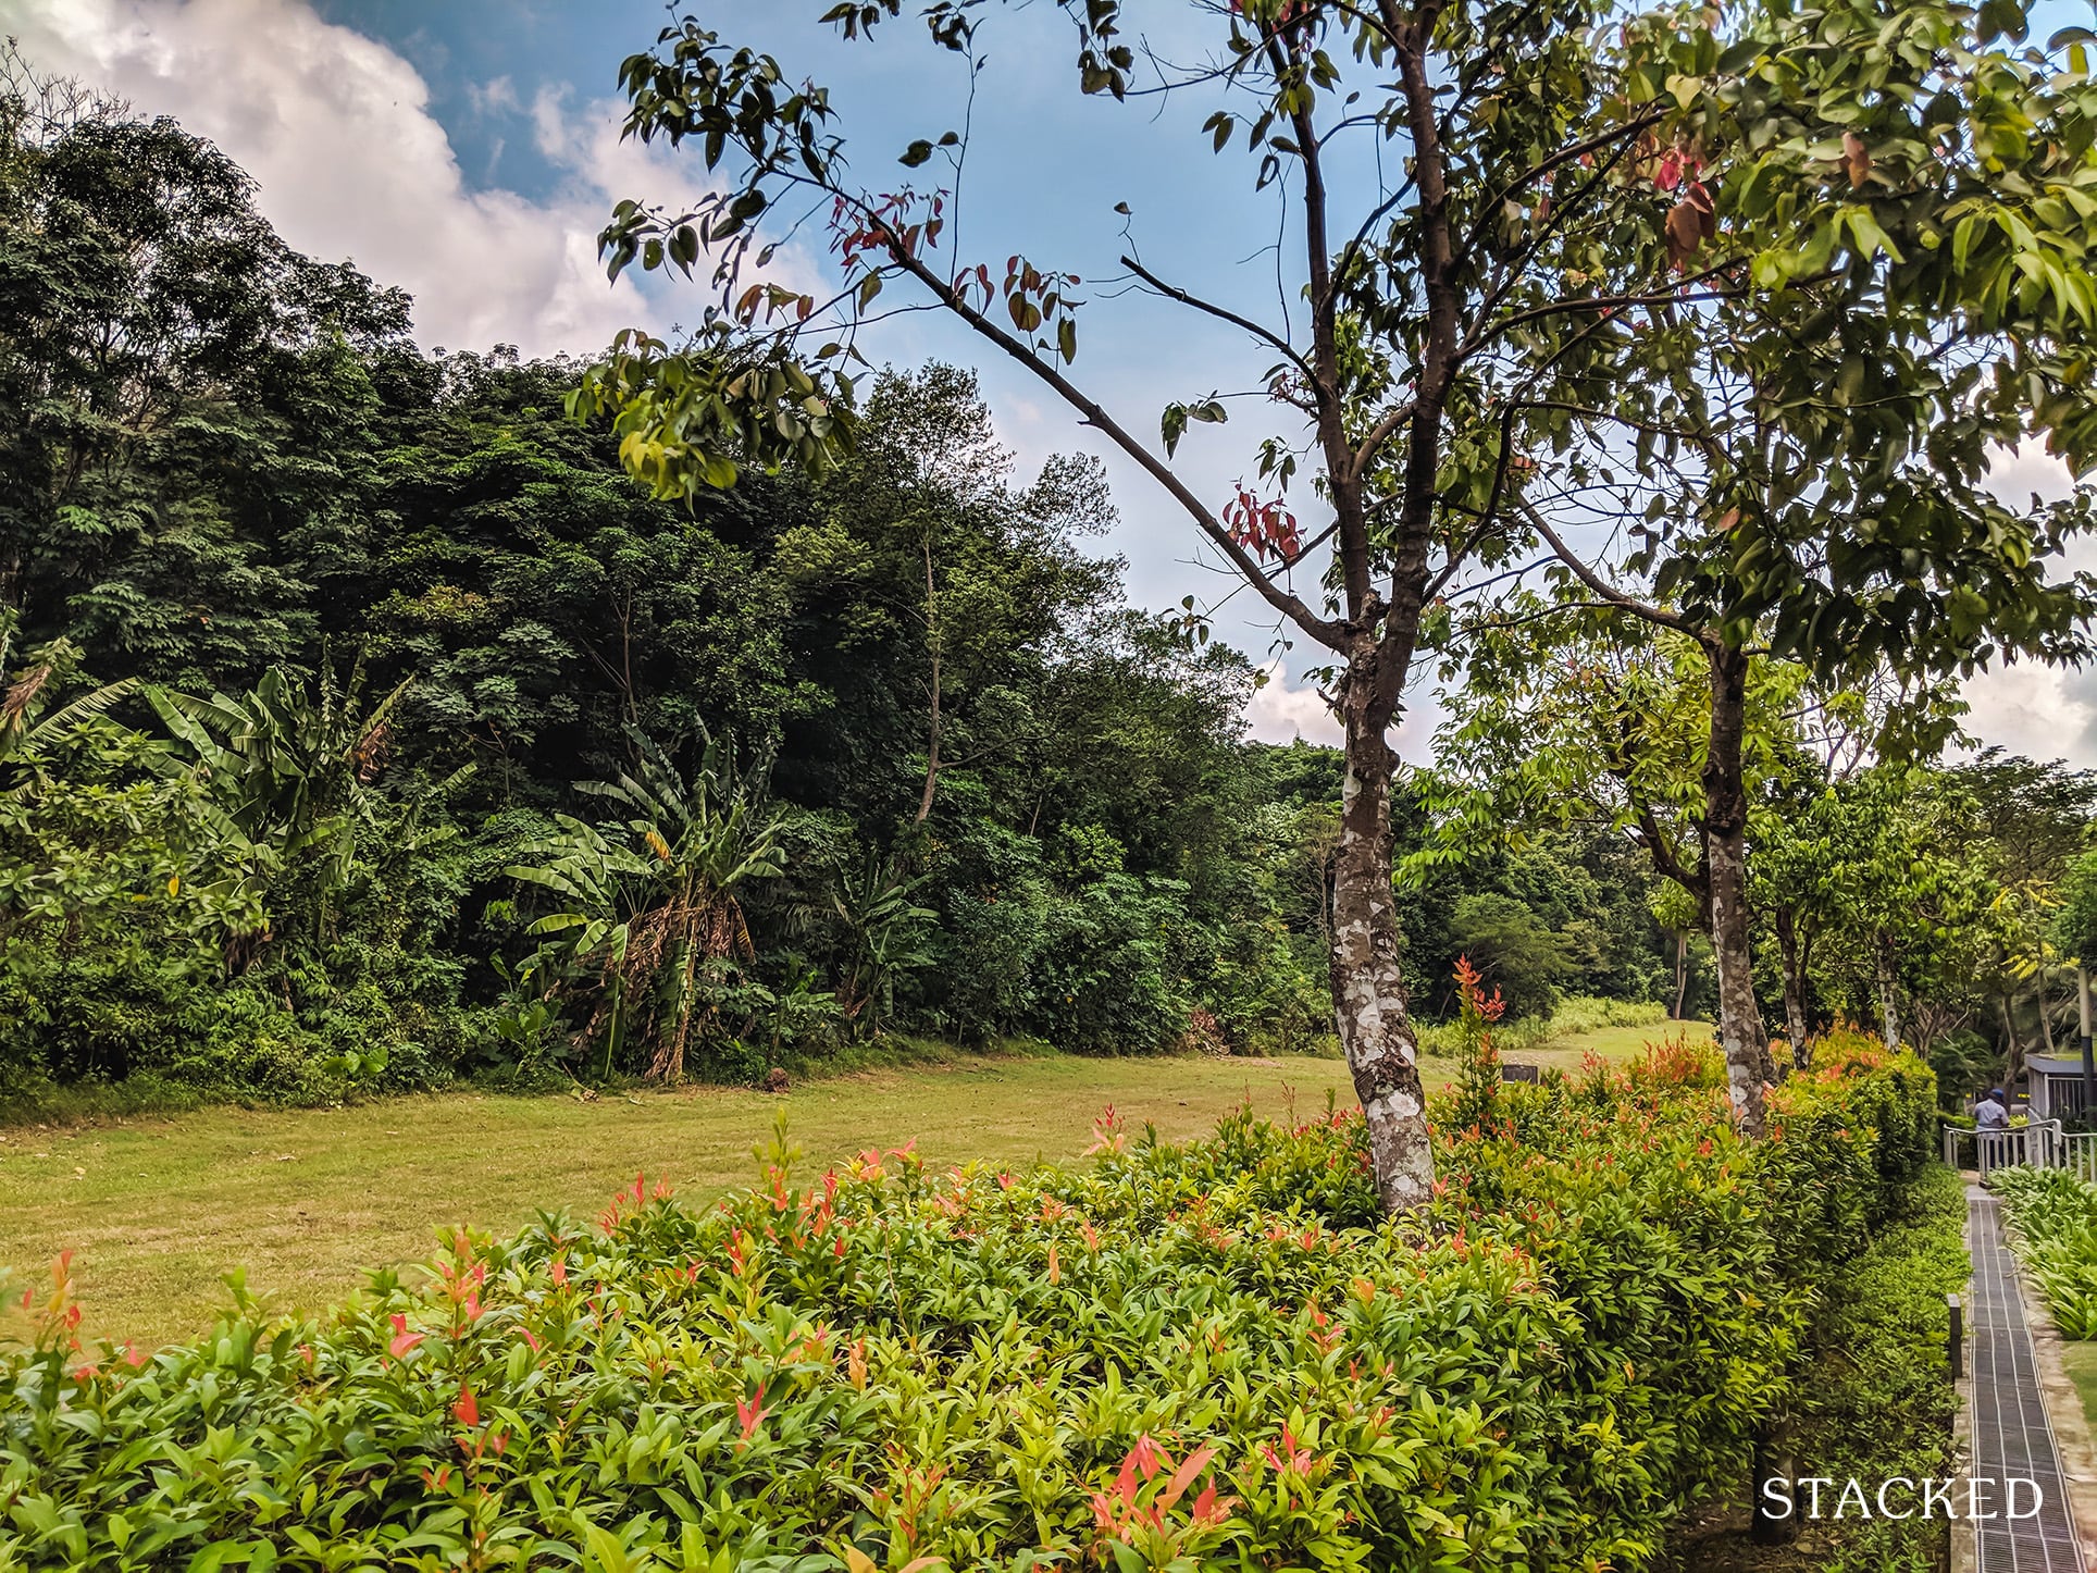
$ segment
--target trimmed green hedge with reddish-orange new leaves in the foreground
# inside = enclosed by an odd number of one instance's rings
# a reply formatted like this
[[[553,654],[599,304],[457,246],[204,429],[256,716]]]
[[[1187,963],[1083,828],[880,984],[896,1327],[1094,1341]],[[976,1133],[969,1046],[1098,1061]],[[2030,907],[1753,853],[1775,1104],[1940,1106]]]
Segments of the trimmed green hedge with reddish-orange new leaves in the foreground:
[[[866,1151],[598,1229],[461,1231],[323,1323],[0,1361],[0,1565],[1638,1569],[1787,1399],[1929,1072],[1734,1139],[1680,1044],[1506,1089],[1374,1216],[1359,1118],[1099,1164]]]

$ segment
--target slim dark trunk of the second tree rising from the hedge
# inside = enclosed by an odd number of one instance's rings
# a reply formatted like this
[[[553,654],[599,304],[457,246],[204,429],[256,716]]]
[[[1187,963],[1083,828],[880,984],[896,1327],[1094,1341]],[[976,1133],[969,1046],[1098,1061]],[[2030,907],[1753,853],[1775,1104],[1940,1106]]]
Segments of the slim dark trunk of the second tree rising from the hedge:
[[[1726,1084],[1743,1135],[1768,1128],[1761,1089],[1770,1082],[1770,1040],[1755,1005],[1755,967],[1747,912],[1747,784],[1741,749],[1747,730],[1745,650],[1705,640],[1711,667],[1711,747],[1705,755],[1705,877],[1711,881],[1711,950],[1717,963],[1717,1040]]]

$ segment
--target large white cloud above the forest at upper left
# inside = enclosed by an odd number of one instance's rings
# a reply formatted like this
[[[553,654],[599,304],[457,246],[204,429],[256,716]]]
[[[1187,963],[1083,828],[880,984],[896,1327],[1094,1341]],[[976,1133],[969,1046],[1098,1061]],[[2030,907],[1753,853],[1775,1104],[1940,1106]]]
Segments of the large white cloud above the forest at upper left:
[[[285,241],[407,287],[424,344],[589,352],[621,327],[669,321],[598,266],[614,197],[679,195],[661,155],[619,145],[610,105],[533,105],[535,134],[568,172],[533,201],[470,191],[415,67],[306,0],[0,0],[0,27],[40,69],[210,136],[256,178]],[[516,88],[472,96],[503,107]],[[696,317],[696,300],[677,304]]]

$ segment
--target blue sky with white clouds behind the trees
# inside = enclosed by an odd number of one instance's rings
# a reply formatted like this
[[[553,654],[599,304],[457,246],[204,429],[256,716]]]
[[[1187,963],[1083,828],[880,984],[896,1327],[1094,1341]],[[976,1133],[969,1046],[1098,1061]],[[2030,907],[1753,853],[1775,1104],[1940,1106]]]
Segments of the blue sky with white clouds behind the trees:
[[[1189,113],[1080,96],[1069,23],[1048,0],[994,17],[973,103],[963,63],[929,48],[908,15],[874,42],[847,46],[816,23],[826,0],[688,8],[726,38],[778,55],[788,76],[828,86],[862,170],[895,168],[889,159],[912,138],[969,115],[954,237],[963,254],[998,268],[1017,252],[1105,279],[1134,243],[1174,283],[1275,315],[1275,235],[1244,229],[1250,170],[1210,155],[1197,126],[1208,105]],[[665,19],[658,0],[0,0],[0,34],[19,38],[40,69],[210,136],[250,170],[258,206],[294,247],[350,258],[407,287],[424,346],[516,344],[526,354],[589,354],[621,327],[667,331],[705,306],[682,281],[629,273],[610,285],[596,260],[596,233],[617,199],[677,203],[705,189],[696,157],[619,141],[619,63],[650,46]],[[1160,55],[1193,57],[1185,8],[1151,4],[1143,21],[1158,29],[1145,40]],[[895,170],[898,182],[910,178]],[[772,273],[812,287],[835,266],[820,241],[795,239]],[[1095,289],[1082,325],[1080,380],[1143,434],[1168,401],[1256,386],[1271,361],[1235,329],[1155,300]],[[1021,476],[1059,451],[1105,457],[1120,510],[1107,545],[1128,560],[1137,604],[1168,610],[1187,594],[1204,604],[1229,594],[1227,570],[1155,482],[1017,365],[986,361],[967,329],[902,315],[862,350],[877,363],[939,357],[979,367]],[[1235,409],[1246,419],[1197,426],[1181,447],[1179,470],[1218,503],[1254,474],[1258,438],[1271,430],[1254,407]],[[2005,455],[1996,478],[2019,501],[2066,487],[2042,453]],[[1315,503],[1304,516],[1315,520]],[[2076,566],[2097,568],[2097,545]],[[1223,602],[1214,623],[1271,671],[1254,696],[1254,736],[1338,740],[1304,680],[1315,654],[1279,648],[1250,591]],[[1980,740],[2097,766],[2097,673],[2009,667],[1973,680],[1967,696]],[[1418,696],[1401,753],[1424,759],[1436,719],[1436,705]]]

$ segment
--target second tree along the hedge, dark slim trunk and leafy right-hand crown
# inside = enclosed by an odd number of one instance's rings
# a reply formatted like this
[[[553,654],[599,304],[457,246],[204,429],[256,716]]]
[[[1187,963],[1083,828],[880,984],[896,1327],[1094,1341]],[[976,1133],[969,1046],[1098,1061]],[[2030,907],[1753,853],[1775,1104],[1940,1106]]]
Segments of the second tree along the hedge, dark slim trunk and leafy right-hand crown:
[[[1550,480],[1522,489],[1571,583],[1707,656],[1720,1034],[1749,1126],[1755,652],[1929,684],[1996,654],[2072,661],[2097,604],[2087,575],[2049,577],[2089,499],[2017,512],[1984,484],[1990,451],[2034,434],[2093,457],[2084,218],[2057,195],[2089,178],[2091,88],[2080,42],[2049,59],[2024,34],[2019,4],[1749,13],[1722,57],[1743,73],[1634,170],[1680,191],[1673,262],[1709,287],[1629,325],[1644,375],[1562,382]],[[1642,516],[1621,564],[1642,596],[1577,547],[1594,510]]]

